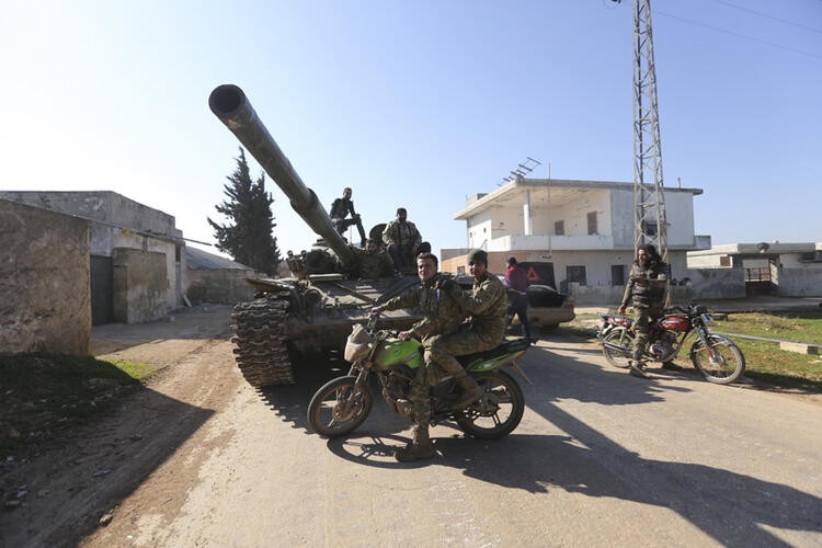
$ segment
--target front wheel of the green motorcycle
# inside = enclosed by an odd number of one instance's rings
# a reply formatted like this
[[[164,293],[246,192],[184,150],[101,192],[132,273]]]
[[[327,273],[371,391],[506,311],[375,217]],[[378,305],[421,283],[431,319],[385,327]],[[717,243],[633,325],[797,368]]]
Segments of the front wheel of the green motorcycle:
[[[321,436],[336,437],[353,432],[368,418],[374,400],[356,377],[338,377],[317,390],[308,403],[308,424]]]

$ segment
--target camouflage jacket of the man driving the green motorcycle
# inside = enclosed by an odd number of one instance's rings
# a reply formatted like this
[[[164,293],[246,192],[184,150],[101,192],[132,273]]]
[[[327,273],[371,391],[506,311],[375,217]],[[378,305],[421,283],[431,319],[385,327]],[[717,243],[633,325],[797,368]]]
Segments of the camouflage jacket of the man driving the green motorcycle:
[[[409,328],[414,336],[423,342],[433,335],[447,333],[456,329],[465,320],[467,313],[448,293],[436,287],[443,274],[423,282],[411,290],[393,297],[385,302],[385,310],[398,308],[416,308],[424,318]]]

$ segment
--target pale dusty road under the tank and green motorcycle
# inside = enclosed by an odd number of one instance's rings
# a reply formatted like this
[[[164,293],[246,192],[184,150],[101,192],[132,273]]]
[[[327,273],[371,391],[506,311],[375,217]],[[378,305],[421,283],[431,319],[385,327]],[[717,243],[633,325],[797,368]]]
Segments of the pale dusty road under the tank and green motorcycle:
[[[546,546],[822,544],[822,401],[652,380],[597,346],[546,336],[523,361],[521,426],[500,442],[432,429],[442,457],[399,465],[384,404],[352,436],[307,431],[329,364],[258,393],[233,365],[228,310],[106,351],[170,367],[115,415],[9,473],[26,503],[3,546]],[[102,347],[102,346],[101,346]],[[106,525],[100,525],[100,522]]]

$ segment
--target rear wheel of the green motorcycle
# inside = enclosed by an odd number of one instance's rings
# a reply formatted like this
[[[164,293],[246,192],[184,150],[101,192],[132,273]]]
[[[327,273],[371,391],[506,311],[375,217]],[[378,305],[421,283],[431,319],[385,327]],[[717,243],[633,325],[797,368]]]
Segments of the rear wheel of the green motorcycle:
[[[499,439],[511,434],[525,412],[525,397],[520,385],[504,372],[473,375],[482,397],[455,419],[466,434],[480,439]]]

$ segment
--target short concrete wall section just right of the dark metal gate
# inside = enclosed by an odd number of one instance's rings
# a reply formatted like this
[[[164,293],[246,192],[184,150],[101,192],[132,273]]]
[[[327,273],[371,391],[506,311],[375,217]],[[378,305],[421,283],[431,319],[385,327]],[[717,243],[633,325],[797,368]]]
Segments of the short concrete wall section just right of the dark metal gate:
[[[165,255],[151,251],[115,248],[114,319],[144,323],[165,317]]]

